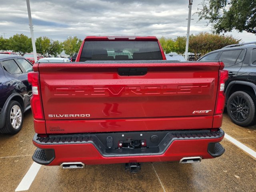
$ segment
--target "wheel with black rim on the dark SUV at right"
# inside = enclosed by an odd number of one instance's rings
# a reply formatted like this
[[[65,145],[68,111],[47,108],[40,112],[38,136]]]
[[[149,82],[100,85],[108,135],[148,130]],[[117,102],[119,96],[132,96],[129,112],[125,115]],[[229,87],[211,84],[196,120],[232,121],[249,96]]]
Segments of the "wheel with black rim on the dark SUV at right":
[[[234,92],[227,103],[228,116],[239,126],[255,124],[255,97],[243,91]]]

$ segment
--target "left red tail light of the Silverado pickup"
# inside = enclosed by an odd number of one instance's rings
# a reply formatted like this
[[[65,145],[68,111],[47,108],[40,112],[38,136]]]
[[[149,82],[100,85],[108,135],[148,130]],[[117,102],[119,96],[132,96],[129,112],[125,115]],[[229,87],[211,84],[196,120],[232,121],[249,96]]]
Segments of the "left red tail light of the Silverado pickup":
[[[39,72],[29,72],[28,82],[32,85],[32,97],[30,100],[32,113],[35,120],[44,120],[41,94],[39,90]]]

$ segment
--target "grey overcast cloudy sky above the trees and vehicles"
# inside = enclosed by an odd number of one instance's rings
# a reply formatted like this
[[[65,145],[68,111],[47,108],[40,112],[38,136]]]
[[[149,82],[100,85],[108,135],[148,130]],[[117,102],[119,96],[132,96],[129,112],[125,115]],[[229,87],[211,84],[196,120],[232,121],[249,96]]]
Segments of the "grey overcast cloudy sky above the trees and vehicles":
[[[194,0],[192,14],[202,0]],[[63,41],[68,36],[186,36],[188,0],[30,0],[34,35]],[[192,16],[190,34],[211,32],[206,21]],[[0,36],[30,37],[26,0],[1,0]],[[231,32],[243,42],[256,41],[247,32]]]

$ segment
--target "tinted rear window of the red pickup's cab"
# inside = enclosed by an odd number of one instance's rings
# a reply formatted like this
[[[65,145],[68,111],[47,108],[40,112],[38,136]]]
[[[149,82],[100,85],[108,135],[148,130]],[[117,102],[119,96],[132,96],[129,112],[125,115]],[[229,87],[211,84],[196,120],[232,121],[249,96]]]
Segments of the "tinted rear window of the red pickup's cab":
[[[156,41],[86,41],[80,62],[88,60],[162,60]]]

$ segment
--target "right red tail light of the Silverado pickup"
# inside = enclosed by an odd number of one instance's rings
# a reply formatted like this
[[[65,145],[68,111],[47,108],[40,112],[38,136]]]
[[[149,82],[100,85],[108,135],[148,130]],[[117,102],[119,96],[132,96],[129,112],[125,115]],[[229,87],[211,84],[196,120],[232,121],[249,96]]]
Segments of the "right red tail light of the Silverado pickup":
[[[219,84],[218,84],[218,96],[216,102],[216,108],[214,115],[220,115],[224,111],[226,96],[224,93],[225,82],[228,79],[228,71],[220,70],[219,72]]]

